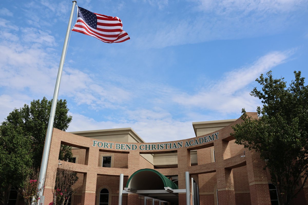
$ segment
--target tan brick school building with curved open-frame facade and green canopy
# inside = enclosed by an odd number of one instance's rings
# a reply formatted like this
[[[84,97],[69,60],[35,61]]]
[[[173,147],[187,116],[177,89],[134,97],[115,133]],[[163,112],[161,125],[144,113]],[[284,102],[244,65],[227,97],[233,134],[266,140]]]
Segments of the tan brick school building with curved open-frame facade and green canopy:
[[[47,175],[68,167],[78,173],[71,205],[278,204],[264,161],[230,136],[231,126],[240,122],[195,122],[195,137],[159,143],[144,142],[131,128],[54,129]],[[61,144],[73,148],[75,163],[59,165]],[[45,204],[52,201],[54,180],[46,180]],[[293,204],[308,204],[307,186]]]

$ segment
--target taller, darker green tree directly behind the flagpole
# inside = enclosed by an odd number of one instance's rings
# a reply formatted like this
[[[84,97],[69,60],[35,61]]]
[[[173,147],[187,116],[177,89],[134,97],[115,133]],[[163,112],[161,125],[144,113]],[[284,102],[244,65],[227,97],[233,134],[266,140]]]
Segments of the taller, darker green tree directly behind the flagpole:
[[[2,126],[7,123],[12,124],[16,128],[21,128],[24,136],[30,136],[33,142],[33,160],[34,167],[39,168],[41,165],[45,136],[49,121],[52,100],[48,101],[46,97],[40,100],[33,100],[30,106],[24,104],[22,108],[15,108],[13,112],[7,116],[2,122]],[[65,131],[72,120],[72,116],[67,115],[68,112],[66,100],[58,100],[55,112],[54,127]],[[68,152],[68,153],[66,153]],[[71,160],[69,154],[70,147],[61,145],[60,156],[66,157],[61,160]]]

